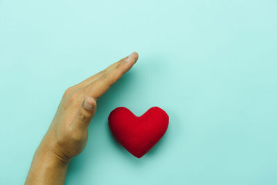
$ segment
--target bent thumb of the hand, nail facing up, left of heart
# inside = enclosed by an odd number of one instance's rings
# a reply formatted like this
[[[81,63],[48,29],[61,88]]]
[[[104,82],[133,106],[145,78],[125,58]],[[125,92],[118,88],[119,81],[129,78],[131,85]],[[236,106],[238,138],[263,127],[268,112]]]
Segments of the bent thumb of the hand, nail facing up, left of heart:
[[[87,96],[84,98],[84,102],[79,107],[78,112],[73,120],[73,127],[87,127],[91,122],[96,112],[96,100]]]

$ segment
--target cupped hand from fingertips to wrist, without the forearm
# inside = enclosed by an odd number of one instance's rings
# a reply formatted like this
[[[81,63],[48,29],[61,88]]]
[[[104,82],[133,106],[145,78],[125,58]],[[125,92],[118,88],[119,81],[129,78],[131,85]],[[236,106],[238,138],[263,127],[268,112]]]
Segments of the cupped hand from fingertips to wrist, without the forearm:
[[[80,154],[87,143],[88,127],[96,112],[96,100],[138,59],[123,58],[78,85],[66,89],[41,146],[64,162]]]

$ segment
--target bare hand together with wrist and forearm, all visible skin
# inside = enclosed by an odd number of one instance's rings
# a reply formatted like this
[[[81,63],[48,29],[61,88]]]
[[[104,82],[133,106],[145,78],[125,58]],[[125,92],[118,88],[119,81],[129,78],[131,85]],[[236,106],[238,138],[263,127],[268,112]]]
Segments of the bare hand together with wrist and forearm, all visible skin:
[[[64,184],[71,159],[87,144],[96,100],[132,68],[134,52],[64,92],[53,121],[35,151],[25,184]]]

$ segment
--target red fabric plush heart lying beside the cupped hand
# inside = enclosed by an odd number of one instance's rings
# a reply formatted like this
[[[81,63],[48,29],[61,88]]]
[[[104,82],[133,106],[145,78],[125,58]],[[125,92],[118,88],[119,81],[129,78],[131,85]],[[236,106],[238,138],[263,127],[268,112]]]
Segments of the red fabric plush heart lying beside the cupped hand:
[[[166,133],[169,117],[159,107],[135,116],[129,109],[118,107],[109,114],[109,128],[114,137],[135,157],[141,158]]]

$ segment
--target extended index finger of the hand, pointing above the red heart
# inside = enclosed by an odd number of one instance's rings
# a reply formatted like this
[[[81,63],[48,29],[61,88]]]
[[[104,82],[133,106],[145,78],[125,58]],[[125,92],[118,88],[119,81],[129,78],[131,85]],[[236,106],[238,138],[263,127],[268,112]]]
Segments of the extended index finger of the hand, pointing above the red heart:
[[[93,82],[84,87],[86,94],[96,100],[102,96],[123,74],[125,74],[138,60],[138,53],[134,52],[127,58],[123,58],[103,71],[100,71]]]

